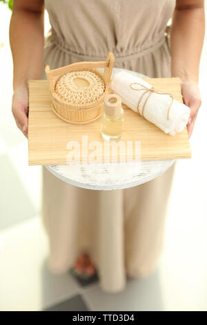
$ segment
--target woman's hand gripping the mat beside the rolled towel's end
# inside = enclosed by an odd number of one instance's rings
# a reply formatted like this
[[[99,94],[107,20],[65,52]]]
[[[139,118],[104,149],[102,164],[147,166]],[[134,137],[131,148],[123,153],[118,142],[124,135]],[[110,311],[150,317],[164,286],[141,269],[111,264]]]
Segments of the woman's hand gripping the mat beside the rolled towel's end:
[[[199,107],[201,106],[201,95],[197,83],[193,80],[181,80],[181,93],[184,104],[190,107],[190,118],[187,124],[188,138],[190,138],[193,133]]]

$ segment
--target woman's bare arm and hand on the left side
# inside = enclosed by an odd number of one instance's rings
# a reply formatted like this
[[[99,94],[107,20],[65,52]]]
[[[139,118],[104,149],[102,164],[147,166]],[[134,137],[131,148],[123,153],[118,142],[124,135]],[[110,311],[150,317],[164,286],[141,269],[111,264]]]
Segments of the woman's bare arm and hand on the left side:
[[[41,79],[43,60],[43,0],[14,0],[10,20],[10,47],[14,76],[12,113],[27,136],[28,79]]]

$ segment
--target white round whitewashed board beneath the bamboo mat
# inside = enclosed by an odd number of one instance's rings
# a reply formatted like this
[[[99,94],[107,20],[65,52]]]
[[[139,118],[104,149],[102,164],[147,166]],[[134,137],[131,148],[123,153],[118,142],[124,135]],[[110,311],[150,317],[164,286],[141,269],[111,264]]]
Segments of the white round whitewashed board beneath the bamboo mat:
[[[103,71],[103,68],[100,68]],[[112,76],[128,71],[138,77],[147,77],[135,71],[113,68]],[[130,163],[88,163],[77,165],[45,165],[53,175],[66,183],[85,189],[125,189],[148,182],[166,171],[175,160],[133,161]]]

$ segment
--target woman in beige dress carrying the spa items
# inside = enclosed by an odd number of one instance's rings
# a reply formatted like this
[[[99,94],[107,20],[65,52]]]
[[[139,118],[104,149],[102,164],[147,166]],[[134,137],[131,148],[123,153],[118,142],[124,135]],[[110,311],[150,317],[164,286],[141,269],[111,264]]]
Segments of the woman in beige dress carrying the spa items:
[[[44,6],[52,31],[43,50]],[[17,126],[27,136],[27,82],[41,79],[44,62],[58,68],[100,61],[112,50],[115,67],[149,77],[181,78],[184,102],[191,109],[190,137],[201,104],[197,84],[204,25],[202,0],[14,0],[10,44]],[[111,293],[123,290],[126,272],[132,277],[150,275],[164,241],[174,165],[144,185],[109,192],[68,185],[43,167],[50,270],[61,273],[74,266],[92,275],[96,267],[101,288]]]

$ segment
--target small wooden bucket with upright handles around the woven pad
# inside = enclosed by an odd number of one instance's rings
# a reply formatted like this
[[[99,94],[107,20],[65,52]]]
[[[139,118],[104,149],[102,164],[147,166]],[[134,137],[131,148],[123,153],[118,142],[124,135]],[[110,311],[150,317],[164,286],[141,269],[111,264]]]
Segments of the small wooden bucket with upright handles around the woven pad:
[[[77,62],[50,70],[50,66],[45,64],[46,77],[48,79],[50,88],[50,98],[52,102],[52,110],[54,113],[66,122],[83,124],[96,120],[101,115],[103,109],[104,97],[110,93],[109,84],[112,73],[112,68],[115,62],[115,56],[110,51],[106,57],[106,61],[100,62]],[[104,68],[103,73],[98,68]],[[85,105],[67,104],[65,100],[61,100],[55,92],[55,87],[60,78],[66,73],[72,71],[90,71],[95,73],[105,84],[104,91],[98,100],[93,101],[92,104],[88,102]]]

